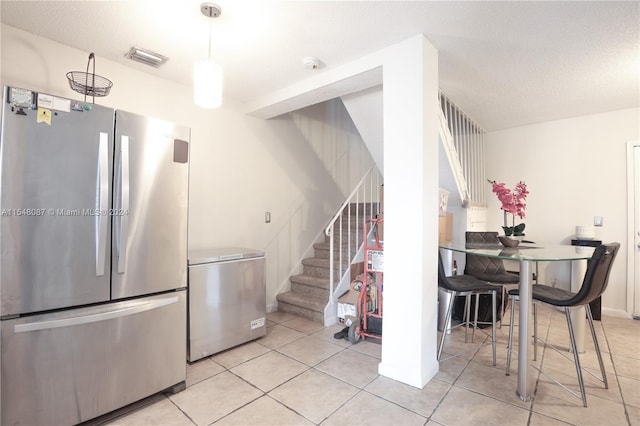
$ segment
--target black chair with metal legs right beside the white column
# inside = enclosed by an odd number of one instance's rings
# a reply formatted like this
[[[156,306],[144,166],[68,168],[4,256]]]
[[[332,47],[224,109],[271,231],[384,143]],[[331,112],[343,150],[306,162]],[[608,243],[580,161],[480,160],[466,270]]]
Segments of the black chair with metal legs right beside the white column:
[[[491,295],[491,301],[492,301],[491,344],[493,346],[493,365],[496,365],[496,298],[497,298],[497,292],[500,290],[500,288],[497,286],[488,284],[486,282],[480,281],[479,279],[472,277],[471,275],[455,275],[455,276],[447,277],[446,273],[444,272],[442,255],[440,254],[439,251],[438,251],[438,287],[451,296],[449,297],[449,303],[447,305],[447,313],[445,314],[445,318],[443,322],[444,324],[451,323],[451,313],[453,311],[453,303],[456,296],[464,296],[468,299],[469,297],[473,297],[473,296],[479,297],[482,294]],[[463,321],[460,324],[451,326],[449,329],[453,330],[454,328],[459,326],[466,326],[467,329],[469,328],[470,303],[468,302],[469,300],[467,300],[467,303],[465,305],[466,314],[465,314],[465,318],[463,318]],[[479,324],[478,303],[476,303],[475,319],[473,322],[474,336],[475,336],[475,331],[478,327],[478,324]],[[442,330],[442,335],[440,336],[440,345],[438,347],[438,356],[437,356],[438,361],[444,361],[441,359],[442,349],[444,347],[444,341],[447,336],[447,332],[449,330],[447,329],[446,325],[443,328],[444,329]],[[453,355],[446,359],[453,358],[459,355],[461,354]]]

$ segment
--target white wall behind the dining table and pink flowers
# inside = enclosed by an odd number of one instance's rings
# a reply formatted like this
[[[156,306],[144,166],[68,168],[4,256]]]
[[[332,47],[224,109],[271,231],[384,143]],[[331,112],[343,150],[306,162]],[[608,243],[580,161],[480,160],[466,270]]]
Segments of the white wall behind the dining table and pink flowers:
[[[527,239],[540,244],[570,244],[576,225],[604,217],[596,238],[621,244],[603,313],[627,307],[626,142],[640,139],[640,109],[626,109],[487,133],[487,178],[513,188],[524,180]],[[500,230],[502,212],[487,184],[488,229]],[[493,213],[492,213],[493,212]],[[569,266],[541,265],[545,283],[569,288]],[[630,283],[632,285],[633,283]]]

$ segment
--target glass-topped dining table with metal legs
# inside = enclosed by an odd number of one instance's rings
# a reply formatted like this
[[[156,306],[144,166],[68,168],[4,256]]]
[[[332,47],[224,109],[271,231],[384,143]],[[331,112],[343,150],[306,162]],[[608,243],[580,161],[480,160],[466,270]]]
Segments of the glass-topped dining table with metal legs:
[[[503,260],[515,260],[520,263],[520,312],[518,322],[518,386],[516,393],[522,401],[529,401],[533,396],[532,368],[529,366],[532,359],[531,351],[531,313],[532,313],[532,284],[531,264],[537,262],[572,262],[572,281],[581,285],[583,276],[576,276],[576,271],[584,275],[584,267],[576,268],[573,264],[586,264],[591,259],[594,247],[581,247],[570,245],[532,245],[520,244],[518,247],[503,247],[499,244],[456,244],[447,243],[439,245],[440,249],[451,252],[469,253],[476,256],[492,257]],[[445,256],[446,257],[446,256]],[[572,291],[575,284],[572,284]],[[584,315],[582,321],[584,322]],[[576,321],[578,322],[578,321]]]

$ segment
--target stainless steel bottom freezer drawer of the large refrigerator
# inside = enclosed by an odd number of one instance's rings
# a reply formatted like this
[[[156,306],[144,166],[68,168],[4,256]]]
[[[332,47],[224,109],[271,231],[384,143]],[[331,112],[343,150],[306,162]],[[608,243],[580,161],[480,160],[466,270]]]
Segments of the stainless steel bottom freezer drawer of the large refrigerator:
[[[2,424],[76,424],[185,380],[186,291],[2,321]]]

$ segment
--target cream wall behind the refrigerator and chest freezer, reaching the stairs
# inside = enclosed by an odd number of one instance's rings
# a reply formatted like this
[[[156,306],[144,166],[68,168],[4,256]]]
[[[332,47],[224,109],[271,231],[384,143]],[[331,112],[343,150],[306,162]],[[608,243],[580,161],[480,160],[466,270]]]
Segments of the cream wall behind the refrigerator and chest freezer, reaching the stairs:
[[[6,25],[0,46],[3,85],[82,99],[65,75],[84,70],[88,52]],[[191,127],[189,248],[264,249],[273,309],[291,272],[372,164],[341,102],[262,120],[228,98],[221,109],[197,108],[190,87],[101,57],[96,73],[114,83],[96,103]]]

